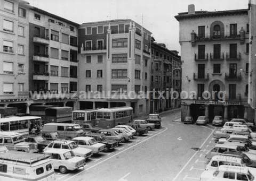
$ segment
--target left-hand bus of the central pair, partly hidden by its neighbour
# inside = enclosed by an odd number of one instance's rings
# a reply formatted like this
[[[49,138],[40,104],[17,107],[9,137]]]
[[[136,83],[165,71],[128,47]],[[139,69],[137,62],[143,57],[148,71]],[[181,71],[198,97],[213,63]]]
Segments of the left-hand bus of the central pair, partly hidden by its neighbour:
[[[73,110],[72,111],[72,123],[83,124],[90,123],[95,125],[95,119],[98,109],[86,109],[86,110]]]

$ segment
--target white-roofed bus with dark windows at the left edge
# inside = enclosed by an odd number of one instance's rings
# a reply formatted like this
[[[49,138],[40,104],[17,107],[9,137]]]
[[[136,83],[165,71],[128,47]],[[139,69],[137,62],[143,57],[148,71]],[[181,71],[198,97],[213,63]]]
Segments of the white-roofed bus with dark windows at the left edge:
[[[42,119],[37,116],[9,117],[0,119],[0,130],[20,134],[29,134],[29,128],[37,125],[42,127]]]

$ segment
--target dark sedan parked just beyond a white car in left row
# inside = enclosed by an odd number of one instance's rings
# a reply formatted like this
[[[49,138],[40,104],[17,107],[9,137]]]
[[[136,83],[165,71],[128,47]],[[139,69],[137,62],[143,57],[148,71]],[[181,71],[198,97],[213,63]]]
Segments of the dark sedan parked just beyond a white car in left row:
[[[118,146],[118,142],[115,140],[107,139],[104,134],[100,133],[86,133],[83,136],[93,137],[99,143],[106,144],[107,151],[113,150]]]

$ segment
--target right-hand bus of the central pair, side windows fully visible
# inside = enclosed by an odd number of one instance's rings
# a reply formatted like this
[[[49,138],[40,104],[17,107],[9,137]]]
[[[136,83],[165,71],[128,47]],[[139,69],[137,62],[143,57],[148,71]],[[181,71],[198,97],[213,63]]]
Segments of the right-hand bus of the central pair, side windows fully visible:
[[[132,122],[132,107],[113,107],[97,110],[95,126],[102,128],[112,128]]]

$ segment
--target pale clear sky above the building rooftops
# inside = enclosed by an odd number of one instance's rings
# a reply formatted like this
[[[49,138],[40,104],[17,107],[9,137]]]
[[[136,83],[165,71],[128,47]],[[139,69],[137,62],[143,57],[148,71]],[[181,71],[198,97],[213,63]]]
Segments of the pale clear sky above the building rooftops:
[[[153,33],[156,42],[180,51],[179,22],[174,18],[187,12],[189,4],[195,10],[222,11],[248,7],[248,0],[26,0],[62,18],[84,22],[132,19]]]

